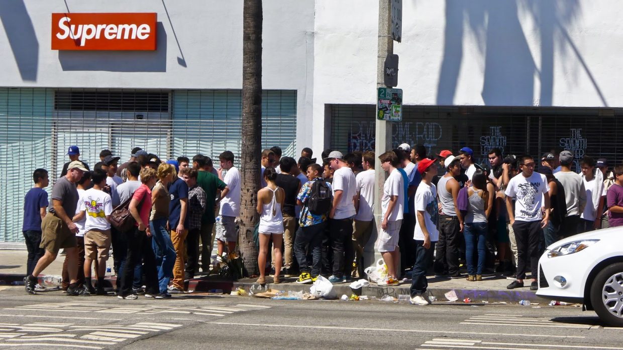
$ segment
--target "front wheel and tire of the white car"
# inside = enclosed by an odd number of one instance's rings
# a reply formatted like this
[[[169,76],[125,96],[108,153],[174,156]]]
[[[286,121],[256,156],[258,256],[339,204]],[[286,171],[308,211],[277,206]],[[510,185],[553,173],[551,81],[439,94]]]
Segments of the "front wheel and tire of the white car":
[[[591,285],[591,303],[602,321],[623,327],[623,262],[608,265],[596,275]]]

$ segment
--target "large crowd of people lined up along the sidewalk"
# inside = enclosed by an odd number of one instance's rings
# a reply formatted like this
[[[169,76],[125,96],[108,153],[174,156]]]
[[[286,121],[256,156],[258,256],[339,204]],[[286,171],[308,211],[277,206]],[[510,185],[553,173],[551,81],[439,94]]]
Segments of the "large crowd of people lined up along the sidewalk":
[[[200,268],[209,274],[220,262],[237,259],[241,176],[232,152],[222,152],[216,168],[205,155],[163,162],[139,147],[118,166],[120,158],[102,150],[92,171],[77,146],[67,154],[70,162],[54,183],[52,205],[44,169],[34,171],[35,186],[25,198],[28,293],[36,294],[37,276],[60,249],[66,252],[67,294],[106,295],[112,247],[121,299],[170,298],[184,293],[184,282]],[[373,264],[366,246],[376,242],[387,267],[378,285],[411,277],[412,303],[430,303],[424,297],[429,269],[435,277],[470,282],[505,275],[513,281],[508,288],[524,287],[530,272],[535,290],[546,246],[623,225],[623,165],[609,172],[606,159],[584,156],[581,173],[575,173],[568,150],[543,154],[540,165],[530,155],[503,157],[497,148],[482,165],[469,147],[430,158],[426,147],[409,144],[378,157],[331,149],[322,152],[321,162],[312,157],[309,148],[298,160],[282,157],[279,147],[262,152],[258,283],[266,283],[267,274],[273,283],[295,277],[312,283],[320,275],[331,283],[365,278],[364,268]],[[377,171],[388,175],[379,191],[378,239]],[[124,205],[135,224],[121,232],[110,218]]]

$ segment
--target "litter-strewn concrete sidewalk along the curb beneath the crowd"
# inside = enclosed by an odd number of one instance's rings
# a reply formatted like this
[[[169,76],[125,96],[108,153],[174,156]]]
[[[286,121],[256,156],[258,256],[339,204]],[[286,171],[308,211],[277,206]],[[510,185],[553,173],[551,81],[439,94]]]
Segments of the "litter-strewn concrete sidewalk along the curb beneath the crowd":
[[[0,251],[0,284],[11,284],[12,282],[20,282],[24,274],[26,274],[26,251],[2,250]],[[49,280],[59,280],[65,257],[59,256],[57,259],[45,269],[45,276],[52,277]],[[285,292],[309,292],[311,285],[301,285],[295,283],[296,279],[283,279],[284,282],[278,285],[272,284],[272,278],[267,277],[267,283],[264,287],[255,283],[256,279],[241,279],[236,282],[220,280],[217,276],[202,277],[191,280],[188,285],[189,290],[194,292],[210,292],[214,290],[222,290],[229,293],[242,287],[246,290],[254,288],[254,290],[265,290],[273,288],[283,290]],[[454,290],[459,302],[465,298],[470,298],[473,303],[518,303],[520,300],[530,300],[530,302],[543,303],[545,300],[536,297],[535,292],[530,291],[530,282],[526,282],[525,288],[514,290],[506,289],[506,285],[511,281],[505,277],[484,277],[482,282],[468,282],[466,279],[439,279],[429,276],[429,293],[437,298],[437,300],[445,302],[445,293]],[[114,283],[114,280],[111,281]],[[378,287],[375,283],[371,283],[369,287],[363,287],[361,295],[369,297],[381,298],[383,295],[390,295],[397,298],[399,295],[408,295],[411,280],[401,282],[400,285],[394,287]],[[350,296],[352,291],[349,283],[336,283],[334,285],[338,297],[343,294]]]

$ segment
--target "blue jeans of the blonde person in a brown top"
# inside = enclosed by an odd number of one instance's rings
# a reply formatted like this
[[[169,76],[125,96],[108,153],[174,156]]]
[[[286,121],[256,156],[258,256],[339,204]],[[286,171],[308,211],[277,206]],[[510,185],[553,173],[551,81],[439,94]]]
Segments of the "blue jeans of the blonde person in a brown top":
[[[151,247],[155,255],[156,270],[158,270],[160,293],[166,293],[166,288],[173,277],[173,265],[175,264],[176,257],[171,236],[169,236],[166,230],[166,221],[167,219],[150,221],[151,235],[153,237]]]

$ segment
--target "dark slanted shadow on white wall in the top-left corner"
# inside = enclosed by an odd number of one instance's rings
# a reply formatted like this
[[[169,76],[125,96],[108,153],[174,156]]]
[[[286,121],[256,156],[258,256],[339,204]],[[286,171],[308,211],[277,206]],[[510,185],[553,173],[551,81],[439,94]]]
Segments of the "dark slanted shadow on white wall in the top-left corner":
[[[2,0],[0,21],[23,81],[37,81],[39,41],[23,0]]]

